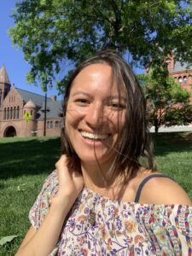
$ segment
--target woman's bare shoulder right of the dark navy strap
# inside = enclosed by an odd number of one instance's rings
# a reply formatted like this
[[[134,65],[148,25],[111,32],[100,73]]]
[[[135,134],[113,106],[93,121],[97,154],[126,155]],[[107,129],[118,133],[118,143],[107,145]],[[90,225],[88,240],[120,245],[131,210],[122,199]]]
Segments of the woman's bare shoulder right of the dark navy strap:
[[[152,177],[145,183],[140,203],[189,205],[192,202],[183,188],[169,177]]]

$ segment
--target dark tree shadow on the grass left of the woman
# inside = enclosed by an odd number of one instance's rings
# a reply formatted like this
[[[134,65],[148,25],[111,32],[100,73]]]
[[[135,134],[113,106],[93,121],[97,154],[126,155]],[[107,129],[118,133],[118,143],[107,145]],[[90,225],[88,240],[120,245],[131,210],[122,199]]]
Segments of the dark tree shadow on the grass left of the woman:
[[[3,138],[0,178],[49,173],[61,154],[61,138]]]

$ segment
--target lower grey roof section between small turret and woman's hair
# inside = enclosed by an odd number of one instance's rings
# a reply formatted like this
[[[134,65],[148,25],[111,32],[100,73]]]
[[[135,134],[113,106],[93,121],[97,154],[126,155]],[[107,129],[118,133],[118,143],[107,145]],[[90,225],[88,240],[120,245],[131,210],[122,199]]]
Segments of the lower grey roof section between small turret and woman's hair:
[[[61,119],[60,114],[62,113],[61,102],[47,102],[47,114],[46,119]],[[42,108],[39,109],[38,114],[40,114],[38,120],[44,119],[44,104]]]

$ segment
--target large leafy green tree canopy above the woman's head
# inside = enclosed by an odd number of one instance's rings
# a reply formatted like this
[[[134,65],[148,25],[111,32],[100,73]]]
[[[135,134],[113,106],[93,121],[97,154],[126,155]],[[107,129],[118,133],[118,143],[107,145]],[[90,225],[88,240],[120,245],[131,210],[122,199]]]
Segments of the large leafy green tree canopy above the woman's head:
[[[166,70],[172,51],[175,59],[192,61],[191,0],[23,0],[15,6],[9,34],[32,67],[28,81],[43,87],[60,73],[62,88],[68,61],[75,66],[103,48],[157,73]]]

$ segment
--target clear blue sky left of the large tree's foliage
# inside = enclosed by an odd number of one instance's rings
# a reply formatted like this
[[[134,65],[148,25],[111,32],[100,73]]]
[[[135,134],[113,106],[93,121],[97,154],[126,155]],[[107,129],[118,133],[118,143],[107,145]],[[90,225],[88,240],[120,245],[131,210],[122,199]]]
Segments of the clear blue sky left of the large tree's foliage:
[[[11,84],[15,84],[23,90],[29,90],[41,95],[44,92],[40,86],[26,83],[26,73],[30,70],[30,66],[24,60],[24,55],[20,49],[17,49],[11,43],[8,36],[8,29],[14,26],[14,20],[10,17],[15,9],[16,0],[1,0],[0,9],[0,67],[5,65]],[[140,69],[135,69],[136,73],[141,73]],[[55,88],[48,90],[48,96],[57,95]],[[61,99],[61,96],[59,97]]]

